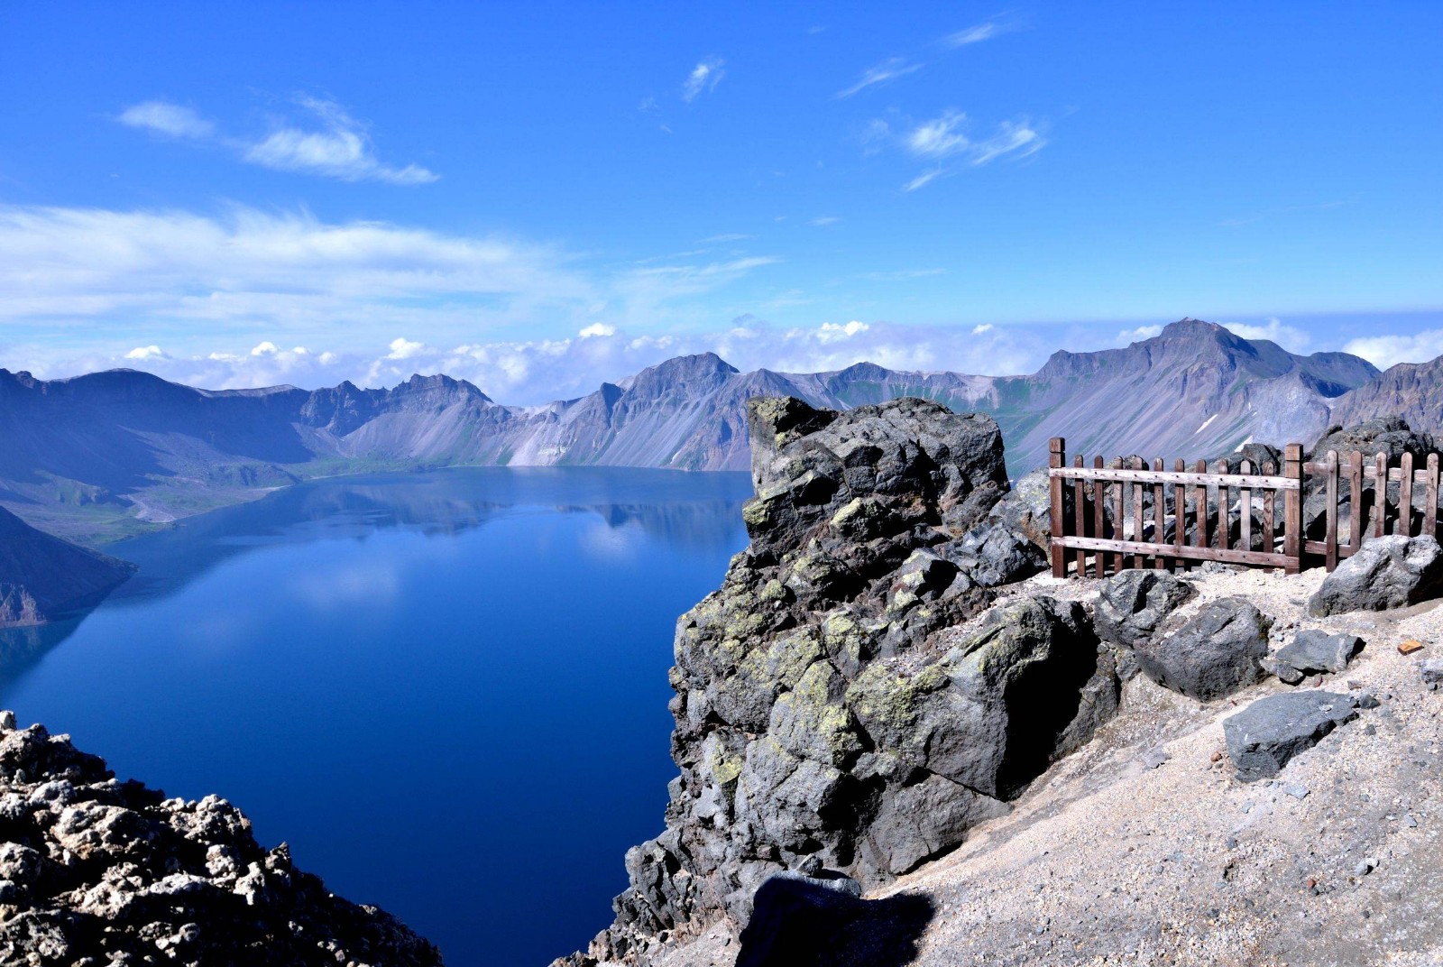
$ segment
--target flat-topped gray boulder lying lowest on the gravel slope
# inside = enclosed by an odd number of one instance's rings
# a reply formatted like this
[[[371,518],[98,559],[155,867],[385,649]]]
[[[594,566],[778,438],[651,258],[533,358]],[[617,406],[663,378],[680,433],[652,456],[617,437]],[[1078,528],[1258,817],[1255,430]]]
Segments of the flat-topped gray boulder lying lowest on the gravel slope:
[[[1299,752],[1358,717],[1358,700],[1335,691],[1293,691],[1258,699],[1222,720],[1228,756],[1244,782],[1271,778]]]

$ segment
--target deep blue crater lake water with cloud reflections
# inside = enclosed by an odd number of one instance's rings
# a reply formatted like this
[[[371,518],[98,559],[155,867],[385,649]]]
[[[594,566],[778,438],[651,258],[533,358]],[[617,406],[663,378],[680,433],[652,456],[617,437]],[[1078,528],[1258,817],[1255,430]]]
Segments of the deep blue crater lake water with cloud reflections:
[[[79,622],[0,632],[0,707],[216,792],[453,966],[584,947],[662,828],[677,616],[743,473],[453,469],[280,491],[107,550]]]

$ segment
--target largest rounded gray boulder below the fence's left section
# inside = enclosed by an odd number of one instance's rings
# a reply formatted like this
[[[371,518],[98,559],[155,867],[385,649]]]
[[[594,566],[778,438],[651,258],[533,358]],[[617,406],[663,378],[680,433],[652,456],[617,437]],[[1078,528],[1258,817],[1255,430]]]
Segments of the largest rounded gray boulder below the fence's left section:
[[[1199,701],[1221,699],[1263,677],[1270,623],[1250,602],[1224,598],[1139,642],[1137,664],[1165,688]]]

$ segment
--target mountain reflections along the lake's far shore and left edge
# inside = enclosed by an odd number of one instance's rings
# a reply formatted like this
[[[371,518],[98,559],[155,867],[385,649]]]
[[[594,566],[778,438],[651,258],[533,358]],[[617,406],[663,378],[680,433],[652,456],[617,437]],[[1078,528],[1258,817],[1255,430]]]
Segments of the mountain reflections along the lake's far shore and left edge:
[[[264,499],[188,518],[107,550],[140,572],[104,608],[169,596],[251,550],[317,540],[367,540],[391,528],[457,535],[512,514],[593,514],[610,530],[635,530],[683,551],[736,540],[745,473],[619,468],[460,468],[315,481]],[[69,638],[85,615],[39,628],[0,629],[0,684],[13,683]]]

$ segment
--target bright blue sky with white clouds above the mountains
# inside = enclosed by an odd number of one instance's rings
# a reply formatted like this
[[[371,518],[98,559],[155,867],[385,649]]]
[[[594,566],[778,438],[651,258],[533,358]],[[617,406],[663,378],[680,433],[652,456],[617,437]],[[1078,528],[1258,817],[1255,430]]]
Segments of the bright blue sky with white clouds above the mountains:
[[[0,0],[0,367],[1443,354],[1437,3]]]

